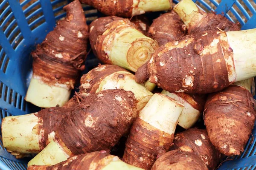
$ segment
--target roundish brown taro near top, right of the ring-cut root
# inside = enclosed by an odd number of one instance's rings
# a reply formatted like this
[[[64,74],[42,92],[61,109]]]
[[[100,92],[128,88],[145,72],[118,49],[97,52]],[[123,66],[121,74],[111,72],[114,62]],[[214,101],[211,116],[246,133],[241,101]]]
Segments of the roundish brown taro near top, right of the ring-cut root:
[[[180,17],[174,11],[171,11],[153,21],[148,30],[148,36],[157,41],[158,45],[161,46],[166,42],[177,40],[184,36],[185,27]]]

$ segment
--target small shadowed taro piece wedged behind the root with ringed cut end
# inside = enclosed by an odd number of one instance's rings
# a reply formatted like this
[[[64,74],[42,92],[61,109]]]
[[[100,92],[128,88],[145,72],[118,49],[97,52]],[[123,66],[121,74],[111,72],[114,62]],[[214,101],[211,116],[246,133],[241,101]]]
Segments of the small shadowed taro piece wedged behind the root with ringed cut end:
[[[140,30],[145,36],[148,35],[148,29],[150,26],[148,17],[145,15],[137,15],[132,17],[131,22],[134,23],[136,28]]]

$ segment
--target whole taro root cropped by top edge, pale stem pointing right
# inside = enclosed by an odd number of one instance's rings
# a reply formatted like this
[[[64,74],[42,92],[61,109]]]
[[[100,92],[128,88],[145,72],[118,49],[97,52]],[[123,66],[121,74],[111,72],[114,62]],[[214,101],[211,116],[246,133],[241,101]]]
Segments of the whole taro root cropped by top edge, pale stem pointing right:
[[[172,0],[80,0],[106,15],[131,18],[145,12],[172,8]]]

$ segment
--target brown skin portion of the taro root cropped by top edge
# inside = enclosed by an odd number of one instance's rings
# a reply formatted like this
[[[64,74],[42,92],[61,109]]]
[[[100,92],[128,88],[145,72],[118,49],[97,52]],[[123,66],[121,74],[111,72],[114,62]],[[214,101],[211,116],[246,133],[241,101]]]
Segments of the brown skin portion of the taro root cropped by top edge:
[[[133,0],[80,0],[80,2],[93,6],[105,15],[132,17]]]

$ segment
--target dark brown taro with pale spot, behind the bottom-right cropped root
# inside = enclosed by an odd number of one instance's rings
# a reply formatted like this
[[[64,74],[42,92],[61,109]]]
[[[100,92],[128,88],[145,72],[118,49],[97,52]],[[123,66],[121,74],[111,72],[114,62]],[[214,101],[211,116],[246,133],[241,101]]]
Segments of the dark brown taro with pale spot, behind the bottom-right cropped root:
[[[176,150],[183,145],[191,147],[194,153],[204,161],[209,170],[215,170],[221,159],[221,154],[210,142],[205,129],[192,128],[177,133],[173,143],[174,145],[170,150]]]

